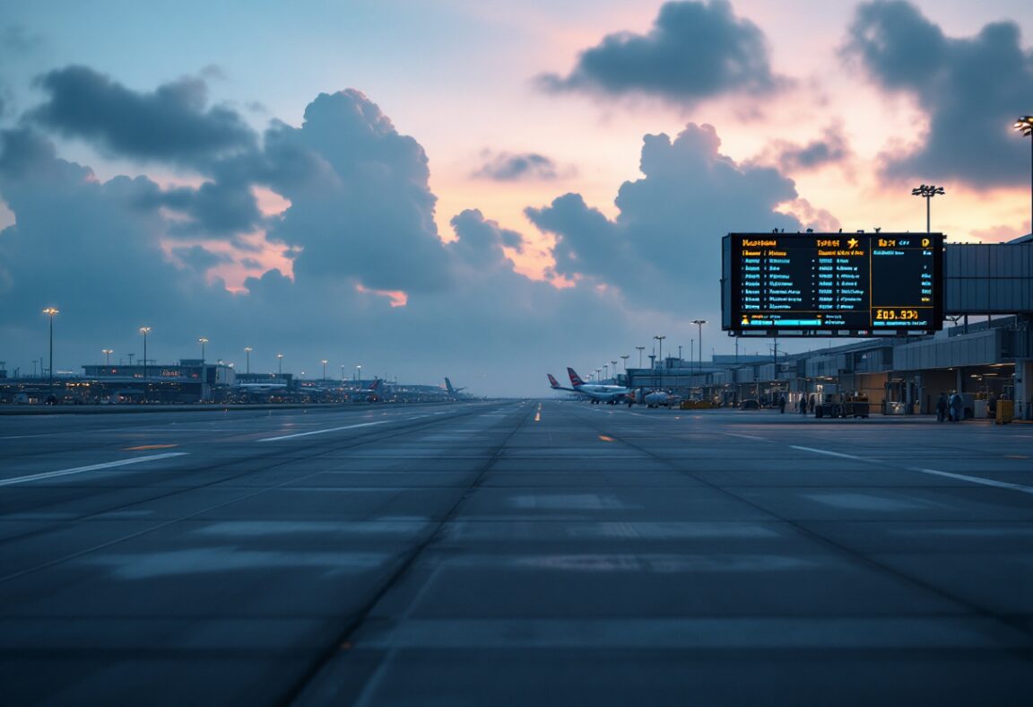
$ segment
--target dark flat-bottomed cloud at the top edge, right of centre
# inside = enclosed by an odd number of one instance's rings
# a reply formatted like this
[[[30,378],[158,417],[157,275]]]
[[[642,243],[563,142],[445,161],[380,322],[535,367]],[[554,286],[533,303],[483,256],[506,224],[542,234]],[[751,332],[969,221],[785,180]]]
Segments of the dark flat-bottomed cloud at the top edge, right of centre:
[[[725,0],[667,2],[645,35],[608,34],[585,50],[567,76],[538,79],[553,92],[645,94],[694,104],[725,93],[764,95],[786,82],[773,74],[766,39]]]

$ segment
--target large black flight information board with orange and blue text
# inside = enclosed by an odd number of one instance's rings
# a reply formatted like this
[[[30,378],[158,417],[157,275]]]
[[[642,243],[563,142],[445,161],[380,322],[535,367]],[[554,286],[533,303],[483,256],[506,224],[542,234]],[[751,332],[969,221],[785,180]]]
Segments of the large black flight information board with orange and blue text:
[[[942,271],[942,234],[729,234],[722,329],[758,336],[938,331]]]

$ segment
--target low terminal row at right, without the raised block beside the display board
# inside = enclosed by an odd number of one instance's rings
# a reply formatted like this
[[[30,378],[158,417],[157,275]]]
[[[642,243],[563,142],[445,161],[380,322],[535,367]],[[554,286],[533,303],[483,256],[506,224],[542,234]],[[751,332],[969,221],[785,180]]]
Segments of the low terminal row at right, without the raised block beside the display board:
[[[1015,401],[1016,419],[1028,420],[1033,402],[1016,397],[1016,378],[1031,374],[1031,356],[1030,321],[1007,316],[936,336],[869,339],[804,354],[715,356],[702,362],[665,358],[652,369],[629,368],[617,381],[727,406],[747,400],[775,405],[784,395],[791,409],[801,397],[820,401],[842,394],[867,398],[872,413],[884,414],[932,414],[940,393],[958,391],[971,417],[985,417],[984,404],[1005,399]]]

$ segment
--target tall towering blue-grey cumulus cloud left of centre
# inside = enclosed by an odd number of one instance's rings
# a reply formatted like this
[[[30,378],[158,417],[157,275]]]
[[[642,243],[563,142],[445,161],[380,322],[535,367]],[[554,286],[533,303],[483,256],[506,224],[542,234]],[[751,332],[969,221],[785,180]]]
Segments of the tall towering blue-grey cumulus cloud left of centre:
[[[300,249],[294,274],[370,289],[445,286],[437,197],[422,147],[355,90],[320,94],[300,128],[265,134],[269,184],[290,202],[270,238]]]

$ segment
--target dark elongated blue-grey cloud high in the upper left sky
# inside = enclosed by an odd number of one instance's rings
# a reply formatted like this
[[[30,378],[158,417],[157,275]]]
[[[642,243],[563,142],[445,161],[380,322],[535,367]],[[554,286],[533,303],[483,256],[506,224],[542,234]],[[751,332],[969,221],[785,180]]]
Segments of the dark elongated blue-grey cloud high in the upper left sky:
[[[254,131],[236,112],[207,107],[201,79],[140,93],[86,66],[68,66],[42,75],[39,85],[49,97],[31,114],[37,124],[118,155],[192,164],[254,147]]]

